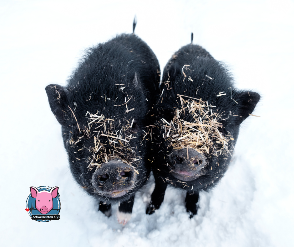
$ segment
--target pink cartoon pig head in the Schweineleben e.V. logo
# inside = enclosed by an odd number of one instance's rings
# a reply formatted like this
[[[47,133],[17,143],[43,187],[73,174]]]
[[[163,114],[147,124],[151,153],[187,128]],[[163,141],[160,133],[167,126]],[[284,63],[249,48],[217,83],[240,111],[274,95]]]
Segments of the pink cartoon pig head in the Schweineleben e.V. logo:
[[[48,213],[53,208],[53,198],[58,195],[58,186],[53,187],[50,191],[39,192],[37,188],[30,186],[31,196],[36,198],[36,209],[43,214]]]

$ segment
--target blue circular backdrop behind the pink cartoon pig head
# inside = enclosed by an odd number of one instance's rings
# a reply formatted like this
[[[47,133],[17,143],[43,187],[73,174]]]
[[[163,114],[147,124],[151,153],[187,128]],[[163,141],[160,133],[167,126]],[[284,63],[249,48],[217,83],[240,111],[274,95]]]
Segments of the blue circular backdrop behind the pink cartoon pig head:
[[[38,191],[41,192],[43,190],[50,191],[52,187],[49,186],[40,186],[38,187]],[[57,194],[57,197],[53,198],[53,208],[47,213],[47,214],[42,214],[36,209],[36,198],[33,198],[31,194],[28,196],[27,203],[26,203],[26,208],[29,208],[30,210],[28,211],[28,214],[30,217],[32,215],[58,215],[60,212],[60,196],[59,193]],[[51,219],[35,219],[36,221],[41,221],[41,222],[48,222],[51,221]]]

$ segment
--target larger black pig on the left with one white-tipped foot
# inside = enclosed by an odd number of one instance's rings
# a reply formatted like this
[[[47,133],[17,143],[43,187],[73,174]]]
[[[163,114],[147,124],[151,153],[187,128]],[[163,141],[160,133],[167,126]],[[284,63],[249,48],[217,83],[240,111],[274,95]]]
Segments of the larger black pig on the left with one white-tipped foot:
[[[67,86],[46,87],[75,180],[107,216],[119,202],[123,224],[150,173],[143,128],[150,125],[159,72],[150,47],[134,33],[121,34],[89,48]]]

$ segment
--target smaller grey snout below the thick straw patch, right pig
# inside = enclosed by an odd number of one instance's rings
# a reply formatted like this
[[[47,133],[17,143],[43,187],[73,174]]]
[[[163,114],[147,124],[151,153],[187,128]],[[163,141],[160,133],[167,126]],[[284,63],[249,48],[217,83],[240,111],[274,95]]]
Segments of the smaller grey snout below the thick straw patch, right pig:
[[[172,152],[171,164],[173,176],[183,181],[191,181],[203,174],[202,168],[205,167],[206,161],[194,148],[182,148]]]

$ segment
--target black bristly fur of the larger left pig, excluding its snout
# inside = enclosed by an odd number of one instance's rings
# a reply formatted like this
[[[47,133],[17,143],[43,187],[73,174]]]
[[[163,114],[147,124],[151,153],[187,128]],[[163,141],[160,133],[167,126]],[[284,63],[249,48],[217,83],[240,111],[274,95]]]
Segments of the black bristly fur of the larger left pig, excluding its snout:
[[[144,126],[151,124],[147,113],[156,102],[154,92],[157,90],[159,92],[159,72],[158,60],[150,47],[134,34],[121,34],[106,43],[86,50],[84,58],[73,71],[67,86],[51,84],[46,87],[50,108],[62,125],[63,142],[73,177],[86,192],[99,199],[101,211],[110,209],[109,206],[106,206],[107,204],[120,202],[121,205],[124,205],[124,201],[134,198],[134,194],[144,185],[149,176],[150,166],[146,166],[145,158],[146,145],[148,145],[146,139],[149,137],[143,140],[143,129]],[[134,108],[128,113],[126,113],[127,108],[124,104],[125,97],[126,101],[130,99],[127,102],[128,109]],[[131,157],[140,157],[139,161],[134,163],[129,160],[139,174],[135,175],[134,188],[122,197],[113,198],[101,195],[96,192],[92,183],[96,166],[93,168],[89,166],[91,161],[89,156],[93,154],[91,152],[94,146],[94,136],[97,136],[99,130],[100,134],[97,138],[103,143],[105,153],[113,154],[111,149],[114,149],[110,145],[109,138],[101,136],[101,133],[107,133],[103,127],[98,127],[99,124],[92,124],[90,135],[86,134],[87,128],[89,129],[89,113],[97,112],[99,112],[97,115],[104,115],[104,119],[114,119],[114,121],[106,122],[107,130],[111,129],[115,133],[117,129],[122,128],[123,139],[130,134],[136,137],[129,140],[129,147],[134,153],[131,150],[119,149],[123,155],[117,155],[117,153],[114,155],[119,156],[119,159],[126,158],[127,154],[130,154]],[[133,118],[135,119],[133,127],[124,132],[127,121],[130,123]],[[98,129],[95,129],[96,127]],[[79,139],[80,141],[76,142]],[[70,140],[75,142],[70,143]],[[98,159],[95,162],[102,161]],[[132,210],[129,209],[129,211]]]

